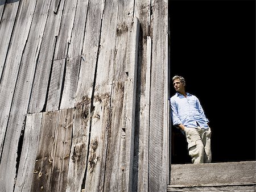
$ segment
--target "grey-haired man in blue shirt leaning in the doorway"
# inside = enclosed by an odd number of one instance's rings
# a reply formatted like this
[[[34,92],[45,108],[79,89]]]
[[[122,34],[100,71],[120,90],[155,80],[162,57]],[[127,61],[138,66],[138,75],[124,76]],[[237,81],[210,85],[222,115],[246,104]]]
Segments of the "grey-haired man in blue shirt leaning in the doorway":
[[[211,131],[203,107],[195,95],[185,92],[184,77],[174,76],[172,82],[176,90],[170,99],[172,124],[184,133],[193,164],[211,162]]]

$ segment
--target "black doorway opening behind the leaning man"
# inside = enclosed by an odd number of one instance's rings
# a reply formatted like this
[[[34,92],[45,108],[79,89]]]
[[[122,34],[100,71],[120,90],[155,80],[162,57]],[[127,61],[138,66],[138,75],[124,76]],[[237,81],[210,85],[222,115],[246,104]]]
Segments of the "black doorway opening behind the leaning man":
[[[201,101],[212,162],[255,160],[255,1],[171,0],[169,17],[170,76]],[[171,142],[172,164],[191,163],[176,128]]]

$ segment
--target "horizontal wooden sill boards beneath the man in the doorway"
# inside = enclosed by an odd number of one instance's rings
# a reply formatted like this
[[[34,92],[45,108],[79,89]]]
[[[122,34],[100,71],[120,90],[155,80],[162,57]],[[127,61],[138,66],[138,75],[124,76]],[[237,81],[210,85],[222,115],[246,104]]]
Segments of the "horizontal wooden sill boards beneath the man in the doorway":
[[[256,161],[171,165],[168,191],[248,191],[256,189]]]

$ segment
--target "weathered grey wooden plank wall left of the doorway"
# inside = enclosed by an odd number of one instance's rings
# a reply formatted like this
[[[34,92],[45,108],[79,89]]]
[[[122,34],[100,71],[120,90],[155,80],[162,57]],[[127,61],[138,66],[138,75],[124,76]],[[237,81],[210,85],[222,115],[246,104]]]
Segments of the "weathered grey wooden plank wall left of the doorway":
[[[168,0],[0,0],[1,191],[167,191]]]

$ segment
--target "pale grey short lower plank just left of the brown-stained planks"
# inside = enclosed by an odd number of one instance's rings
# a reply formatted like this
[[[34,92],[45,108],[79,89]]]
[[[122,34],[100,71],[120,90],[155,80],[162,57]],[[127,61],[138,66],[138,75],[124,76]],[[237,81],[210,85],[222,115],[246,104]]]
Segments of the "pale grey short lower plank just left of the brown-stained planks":
[[[14,191],[31,191],[36,153],[39,147],[42,113],[28,114],[24,129],[22,153]]]

